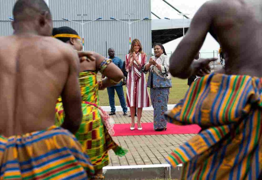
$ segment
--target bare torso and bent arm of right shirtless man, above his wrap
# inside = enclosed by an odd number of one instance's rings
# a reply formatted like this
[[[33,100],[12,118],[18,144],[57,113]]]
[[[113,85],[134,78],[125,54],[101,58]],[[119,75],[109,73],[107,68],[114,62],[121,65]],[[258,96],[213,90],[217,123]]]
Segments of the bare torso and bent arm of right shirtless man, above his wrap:
[[[262,77],[261,8],[260,0],[213,0],[204,3],[170,58],[170,73],[187,78],[194,70],[214,60],[201,59],[192,63],[210,32],[226,53],[226,74]]]

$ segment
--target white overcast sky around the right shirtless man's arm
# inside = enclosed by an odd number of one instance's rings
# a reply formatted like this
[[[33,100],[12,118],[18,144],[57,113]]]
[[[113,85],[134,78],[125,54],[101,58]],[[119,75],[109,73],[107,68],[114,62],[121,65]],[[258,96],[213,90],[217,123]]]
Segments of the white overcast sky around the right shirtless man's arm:
[[[182,13],[189,13],[189,18],[193,18],[199,7],[201,7],[204,2],[207,0],[166,0]],[[157,14],[161,19],[164,17],[168,17],[170,19],[179,19],[182,16],[179,16],[176,10],[170,7],[162,0],[151,0],[151,11]],[[151,14],[152,19],[158,19],[156,16]],[[167,52],[174,51],[176,46],[179,44],[182,38],[179,38],[174,41],[170,41],[169,43],[165,44],[164,47]],[[218,50],[219,44],[211,37],[211,35],[207,35],[206,41],[201,48],[201,52],[213,52],[213,50]],[[210,54],[212,55],[212,54]],[[208,55],[208,56],[210,56]]]

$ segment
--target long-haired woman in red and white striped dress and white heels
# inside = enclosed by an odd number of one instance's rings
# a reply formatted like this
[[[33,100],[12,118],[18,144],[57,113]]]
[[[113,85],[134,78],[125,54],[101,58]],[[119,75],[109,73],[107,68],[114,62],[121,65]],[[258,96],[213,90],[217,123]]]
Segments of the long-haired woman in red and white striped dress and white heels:
[[[142,51],[142,45],[138,39],[131,43],[129,54],[126,55],[126,101],[131,113],[130,130],[135,129],[135,110],[137,108],[137,126],[142,130],[140,123],[143,107],[150,107],[150,99],[146,87],[145,74],[142,67],[146,63],[146,54]]]

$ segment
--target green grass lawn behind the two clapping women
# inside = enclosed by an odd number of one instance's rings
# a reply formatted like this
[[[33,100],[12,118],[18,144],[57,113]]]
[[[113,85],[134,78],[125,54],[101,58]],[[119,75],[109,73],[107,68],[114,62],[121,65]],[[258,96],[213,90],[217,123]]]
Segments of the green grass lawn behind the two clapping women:
[[[125,98],[126,98],[126,86],[123,86]],[[178,79],[172,77],[172,88],[170,88],[169,101],[168,104],[176,104],[180,99],[184,98],[186,91],[189,86],[187,85],[187,79]],[[148,88],[148,93],[150,95],[150,88]],[[100,106],[109,106],[108,93],[107,90],[99,91],[99,101]],[[120,102],[115,92],[115,105],[120,106]]]

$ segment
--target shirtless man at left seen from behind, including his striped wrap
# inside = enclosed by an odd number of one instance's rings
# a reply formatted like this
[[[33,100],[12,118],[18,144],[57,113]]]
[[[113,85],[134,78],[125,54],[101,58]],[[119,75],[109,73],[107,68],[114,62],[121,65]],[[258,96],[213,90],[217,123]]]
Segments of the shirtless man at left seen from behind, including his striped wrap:
[[[79,57],[51,37],[53,24],[45,1],[18,0],[13,16],[14,35],[0,37],[5,42],[0,45],[1,178],[86,178],[86,171],[94,169],[71,134],[82,118]],[[65,110],[62,128],[53,126],[59,95]],[[67,158],[60,160],[62,156]]]

